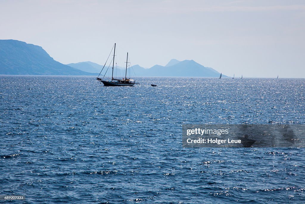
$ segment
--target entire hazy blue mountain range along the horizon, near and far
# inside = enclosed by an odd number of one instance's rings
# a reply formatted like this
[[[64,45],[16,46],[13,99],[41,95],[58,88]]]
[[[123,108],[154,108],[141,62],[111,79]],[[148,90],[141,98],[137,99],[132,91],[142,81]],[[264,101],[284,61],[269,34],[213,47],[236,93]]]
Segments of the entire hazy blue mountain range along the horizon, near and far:
[[[90,61],[64,65],[55,61],[40,46],[18,40],[0,40],[0,74],[3,75],[97,76],[102,67],[102,65]],[[122,70],[121,73],[124,73],[125,68],[118,68]],[[135,76],[219,77],[220,75],[216,70],[204,67],[193,60],[172,59],[165,66],[155,65],[147,69],[134,65],[132,69]]]

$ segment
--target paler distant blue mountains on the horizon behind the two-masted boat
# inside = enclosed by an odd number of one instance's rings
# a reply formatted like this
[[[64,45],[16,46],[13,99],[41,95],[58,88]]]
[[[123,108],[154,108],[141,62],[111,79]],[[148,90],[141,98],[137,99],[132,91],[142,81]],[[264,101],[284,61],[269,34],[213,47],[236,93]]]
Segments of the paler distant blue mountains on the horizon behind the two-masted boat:
[[[102,66],[93,62],[79,62],[74,64],[68,64],[69,66],[73,66],[74,68],[81,69],[83,71],[88,71],[93,69],[90,65],[95,64],[99,67],[99,72],[102,70]],[[81,67],[82,66],[82,67]],[[90,69],[89,69],[90,68]],[[125,70],[123,67],[118,67],[119,69]],[[130,68],[128,68],[130,69]],[[136,76],[198,76],[198,77],[219,77],[220,73],[215,69],[210,67],[205,67],[203,65],[198,64],[194,60],[184,60],[178,61],[176,59],[170,60],[167,65],[154,65],[149,69],[145,69],[140,65],[133,65],[133,71]],[[96,72],[96,71],[95,71]],[[129,70],[127,70],[129,73]],[[103,73],[105,73],[103,71]],[[123,73],[123,72],[121,72]],[[228,77],[226,75],[222,75],[222,77]]]

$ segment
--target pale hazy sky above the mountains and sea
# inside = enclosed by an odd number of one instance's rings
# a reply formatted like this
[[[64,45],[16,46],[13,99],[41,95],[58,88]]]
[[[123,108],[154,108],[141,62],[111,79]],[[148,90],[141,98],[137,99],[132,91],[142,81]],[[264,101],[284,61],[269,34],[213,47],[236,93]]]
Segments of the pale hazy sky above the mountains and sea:
[[[104,64],[117,43],[142,67],[193,59],[229,76],[305,78],[305,1],[0,0],[0,19],[0,39],[64,64]]]

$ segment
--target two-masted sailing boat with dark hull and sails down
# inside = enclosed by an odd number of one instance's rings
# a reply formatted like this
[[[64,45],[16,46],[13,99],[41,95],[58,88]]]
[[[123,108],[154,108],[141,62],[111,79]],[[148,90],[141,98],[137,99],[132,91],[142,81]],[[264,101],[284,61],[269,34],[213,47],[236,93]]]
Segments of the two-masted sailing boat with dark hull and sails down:
[[[133,86],[133,85],[135,85],[135,84],[138,84],[138,83],[135,83],[135,80],[133,80],[133,79],[130,79],[130,78],[127,79],[128,52],[127,52],[127,60],[126,60],[125,78],[123,78],[123,80],[119,80],[119,79],[113,78],[115,47],[116,47],[116,43],[114,43],[111,81],[110,81],[110,80],[108,80],[108,81],[107,81],[107,80],[104,80],[104,77],[105,77],[106,73],[105,73],[105,75],[104,75],[103,78],[99,78],[99,76],[96,77],[96,80],[102,82],[102,83],[104,84],[104,86]],[[108,57],[108,58],[109,58],[109,57]],[[108,59],[107,59],[107,60],[108,60]],[[107,63],[107,61],[106,61],[106,63]],[[106,63],[105,63],[105,65],[106,65]],[[105,65],[104,65],[104,67],[105,67]],[[110,66],[110,65],[109,65],[109,66]],[[103,69],[104,69],[104,67],[103,67]],[[103,71],[103,69],[102,69],[102,71]],[[102,71],[99,73],[99,75],[102,73]],[[106,72],[107,72],[107,71],[106,71]]]

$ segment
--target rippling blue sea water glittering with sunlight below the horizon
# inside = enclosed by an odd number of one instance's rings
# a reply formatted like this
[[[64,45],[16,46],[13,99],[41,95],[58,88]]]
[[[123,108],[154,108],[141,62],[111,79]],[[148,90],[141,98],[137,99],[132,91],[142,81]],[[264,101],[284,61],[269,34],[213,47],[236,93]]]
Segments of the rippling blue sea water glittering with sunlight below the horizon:
[[[0,195],[26,197],[0,203],[305,203],[304,148],[191,149],[181,135],[305,124],[305,79],[0,80]]]

